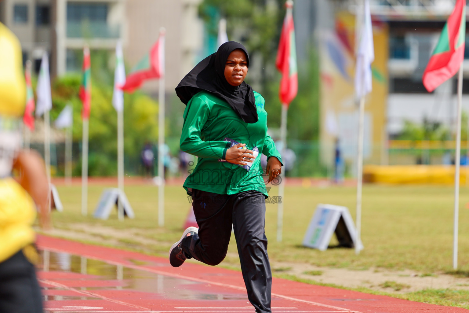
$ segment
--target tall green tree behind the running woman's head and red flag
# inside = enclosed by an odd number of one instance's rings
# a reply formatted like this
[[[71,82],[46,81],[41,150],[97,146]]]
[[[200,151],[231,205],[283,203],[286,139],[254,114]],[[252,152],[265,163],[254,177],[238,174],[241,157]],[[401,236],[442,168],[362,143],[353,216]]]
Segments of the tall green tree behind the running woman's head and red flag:
[[[225,17],[228,38],[242,42],[251,60],[260,56],[256,58],[262,62],[259,77],[252,78],[252,74],[248,74],[246,82],[265,98],[269,128],[280,127],[280,73],[275,68],[275,58],[285,16],[283,5],[280,1],[239,0],[234,5],[232,1],[204,0],[199,7],[209,36],[217,35],[218,18]],[[312,47],[309,49],[307,60],[298,64],[298,95],[289,106],[287,119],[287,145],[297,154],[297,167],[292,173],[299,176],[320,171],[318,53]]]

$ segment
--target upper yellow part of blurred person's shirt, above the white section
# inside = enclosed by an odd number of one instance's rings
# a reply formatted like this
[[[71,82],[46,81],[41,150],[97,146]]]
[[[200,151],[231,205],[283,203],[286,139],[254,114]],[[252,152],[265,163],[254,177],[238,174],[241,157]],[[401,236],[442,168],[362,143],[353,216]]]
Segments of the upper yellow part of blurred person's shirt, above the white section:
[[[0,23],[0,115],[19,118],[25,104],[21,45],[15,34]]]

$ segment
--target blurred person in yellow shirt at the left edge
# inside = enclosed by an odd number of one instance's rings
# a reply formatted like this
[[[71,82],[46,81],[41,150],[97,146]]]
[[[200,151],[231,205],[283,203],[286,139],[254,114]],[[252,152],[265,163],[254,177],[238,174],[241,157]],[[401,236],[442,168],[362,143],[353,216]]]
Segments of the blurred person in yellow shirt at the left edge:
[[[41,313],[32,224],[50,229],[49,187],[38,153],[21,151],[26,102],[18,38],[0,23],[0,312]],[[17,180],[12,173],[17,173]]]

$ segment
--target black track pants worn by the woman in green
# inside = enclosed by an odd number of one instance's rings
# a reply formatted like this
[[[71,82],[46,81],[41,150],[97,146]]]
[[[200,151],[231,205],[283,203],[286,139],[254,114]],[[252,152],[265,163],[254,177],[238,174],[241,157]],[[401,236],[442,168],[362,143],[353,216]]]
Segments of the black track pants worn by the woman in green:
[[[182,250],[188,257],[217,265],[227,255],[233,225],[249,301],[256,312],[267,313],[272,312],[272,273],[264,232],[264,199],[264,194],[253,190],[220,195],[194,189],[192,206],[199,231],[182,239]]]

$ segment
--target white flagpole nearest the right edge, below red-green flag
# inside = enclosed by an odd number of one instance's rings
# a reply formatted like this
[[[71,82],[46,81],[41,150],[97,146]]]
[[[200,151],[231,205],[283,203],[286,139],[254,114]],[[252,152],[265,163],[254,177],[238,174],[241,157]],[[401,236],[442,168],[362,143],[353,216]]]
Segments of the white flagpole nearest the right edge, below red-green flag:
[[[458,111],[456,120],[456,157],[454,171],[454,234],[453,268],[458,268],[458,226],[459,226],[459,169],[461,166],[461,108],[462,108],[462,63],[458,75]]]

